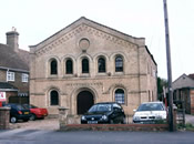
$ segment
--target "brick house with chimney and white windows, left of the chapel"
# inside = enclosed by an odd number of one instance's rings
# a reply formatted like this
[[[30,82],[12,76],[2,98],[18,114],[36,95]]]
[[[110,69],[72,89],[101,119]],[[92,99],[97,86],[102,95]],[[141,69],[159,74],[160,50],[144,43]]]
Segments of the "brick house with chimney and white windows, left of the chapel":
[[[25,103],[29,101],[29,52],[19,49],[19,33],[14,29],[6,34],[7,44],[0,43],[0,92],[7,103]]]

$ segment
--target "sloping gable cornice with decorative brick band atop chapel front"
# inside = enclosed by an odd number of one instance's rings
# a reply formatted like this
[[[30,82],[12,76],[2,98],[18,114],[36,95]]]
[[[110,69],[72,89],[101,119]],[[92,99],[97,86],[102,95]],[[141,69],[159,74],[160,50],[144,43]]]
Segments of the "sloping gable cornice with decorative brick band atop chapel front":
[[[81,17],[75,22],[71,23],[37,45],[30,45],[30,50],[35,52],[38,55],[41,55],[42,53],[45,53],[45,51],[50,51],[55,47],[65,43],[82,31],[124,47],[139,45],[139,43],[140,45],[144,45],[144,38],[134,38]]]

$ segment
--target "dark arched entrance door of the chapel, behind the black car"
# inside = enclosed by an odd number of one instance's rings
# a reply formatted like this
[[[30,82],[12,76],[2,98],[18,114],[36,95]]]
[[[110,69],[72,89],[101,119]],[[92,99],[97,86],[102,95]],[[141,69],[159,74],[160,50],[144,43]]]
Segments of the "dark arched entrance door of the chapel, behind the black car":
[[[94,104],[93,94],[89,91],[82,91],[76,97],[76,112],[84,114]]]

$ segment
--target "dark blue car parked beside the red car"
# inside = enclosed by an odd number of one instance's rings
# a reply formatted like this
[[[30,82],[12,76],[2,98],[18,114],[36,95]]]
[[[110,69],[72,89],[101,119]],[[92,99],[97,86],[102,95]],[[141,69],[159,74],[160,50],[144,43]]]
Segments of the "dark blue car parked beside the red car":
[[[10,110],[10,122],[17,123],[18,120],[23,120],[24,122],[28,122],[30,120],[31,113],[30,110],[23,107],[21,104],[3,104],[3,106],[11,107]]]

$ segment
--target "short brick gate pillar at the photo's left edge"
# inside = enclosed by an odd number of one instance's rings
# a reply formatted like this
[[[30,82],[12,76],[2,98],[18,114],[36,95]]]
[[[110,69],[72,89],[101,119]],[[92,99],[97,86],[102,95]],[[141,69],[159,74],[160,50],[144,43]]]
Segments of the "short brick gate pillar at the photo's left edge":
[[[0,130],[10,128],[10,107],[0,107]]]

